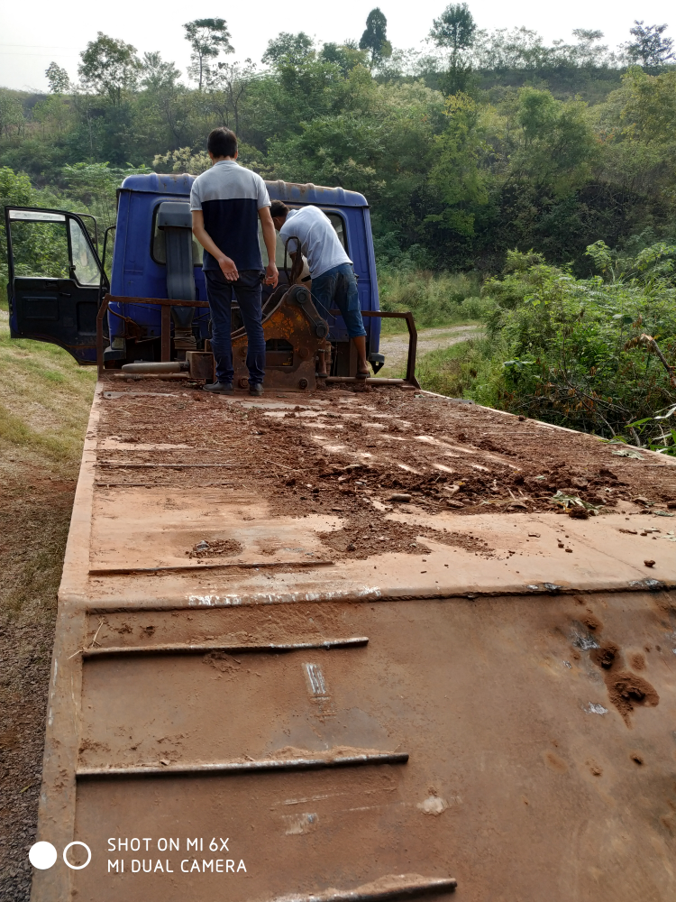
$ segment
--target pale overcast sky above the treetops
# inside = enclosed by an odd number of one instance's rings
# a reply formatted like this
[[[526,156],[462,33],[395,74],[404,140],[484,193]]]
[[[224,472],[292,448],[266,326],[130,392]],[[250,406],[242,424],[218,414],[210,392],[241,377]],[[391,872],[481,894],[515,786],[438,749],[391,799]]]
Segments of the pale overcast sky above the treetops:
[[[420,48],[432,20],[444,0],[416,0],[415,3],[376,0],[388,17],[388,37],[394,47]],[[79,52],[96,32],[132,43],[138,51],[160,51],[165,60],[176,62],[185,73],[189,48],[182,24],[189,18],[222,16],[232,34],[235,54],[231,60],[260,57],[270,38],[279,32],[305,31],[319,41],[359,40],[373,0],[341,0],[340,3],[311,6],[260,0],[257,4],[215,4],[213,0],[186,5],[166,0],[160,5],[138,0],[116,0],[99,5],[69,0],[32,0],[30,4],[3,0],[0,9],[0,85],[23,90],[47,89],[44,70],[51,60],[77,78]],[[187,8],[189,7],[189,13]],[[604,43],[614,49],[626,41],[633,21],[646,24],[670,23],[668,33],[676,35],[673,0],[471,0],[470,10],[480,28],[511,28],[525,25],[540,32],[545,41],[571,41],[573,28],[598,29]]]

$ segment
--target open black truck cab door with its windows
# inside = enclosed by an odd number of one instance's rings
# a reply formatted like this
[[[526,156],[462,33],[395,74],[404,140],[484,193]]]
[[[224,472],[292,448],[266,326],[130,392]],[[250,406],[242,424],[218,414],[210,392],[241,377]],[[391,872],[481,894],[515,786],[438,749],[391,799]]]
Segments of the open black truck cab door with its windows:
[[[96,364],[96,313],[107,290],[96,247],[77,214],[5,207],[10,335],[60,345]]]

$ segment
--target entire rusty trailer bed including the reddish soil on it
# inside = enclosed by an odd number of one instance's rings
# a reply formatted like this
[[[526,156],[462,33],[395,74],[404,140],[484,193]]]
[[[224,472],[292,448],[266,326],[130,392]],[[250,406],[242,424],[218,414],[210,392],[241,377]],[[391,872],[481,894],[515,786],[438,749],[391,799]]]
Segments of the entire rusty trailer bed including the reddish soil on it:
[[[32,902],[676,897],[676,467],[617,451],[99,382]]]

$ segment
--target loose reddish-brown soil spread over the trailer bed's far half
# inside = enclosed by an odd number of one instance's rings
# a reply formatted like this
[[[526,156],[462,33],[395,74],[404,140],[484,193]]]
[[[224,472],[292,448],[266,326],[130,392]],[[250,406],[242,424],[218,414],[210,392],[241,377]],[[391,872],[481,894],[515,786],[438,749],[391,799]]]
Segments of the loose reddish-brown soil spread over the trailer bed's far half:
[[[101,439],[119,434],[121,419],[131,417],[132,432],[144,444],[188,447],[101,452],[102,461],[116,465],[102,466],[102,484],[114,478],[119,484],[142,482],[168,492],[178,486],[204,491],[223,485],[255,492],[269,502],[272,517],[340,513],[346,532],[331,547],[347,554],[352,553],[346,550],[349,545],[359,548],[358,554],[365,547],[347,540],[365,537],[365,512],[378,523],[370,553],[406,553],[416,540],[415,528],[402,529],[393,511],[457,517],[562,511],[553,501],[559,490],[601,511],[638,496],[660,509],[673,494],[666,481],[655,478],[653,458],[609,460],[612,448],[594,437],[566,433],[564,440],[558,429],[533,420],[415,397],[397,388],[362,394],[331,389],[302,399],[275,391],[266,395],[266,400],[288,404],[286,410],[244,408],[151,380],[144,382],[143,391],[168,397],[130,394],[105,400]],[[209,466],[125,470],[124,463]],[[388,499],[395,493],[410,495],[410,504],[392,508]],[[386,538],[378,539],[381,535]],[[215,549],[207,541],[210,548],[193,548],[189,557],[238,553],[224,546]]]

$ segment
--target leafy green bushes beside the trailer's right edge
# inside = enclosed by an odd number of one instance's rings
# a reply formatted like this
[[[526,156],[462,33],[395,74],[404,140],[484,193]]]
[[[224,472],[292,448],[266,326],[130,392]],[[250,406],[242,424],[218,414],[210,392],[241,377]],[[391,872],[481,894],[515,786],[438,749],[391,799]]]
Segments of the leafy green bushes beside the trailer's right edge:
[[[467,391],[507,410],[673,453],[676,248],[644,249],[621,278],[607,248],[597,244],[589,255],[604,277],[577,280],[539,255],[510,254],[506,272],[481,291],[495,306]]]

